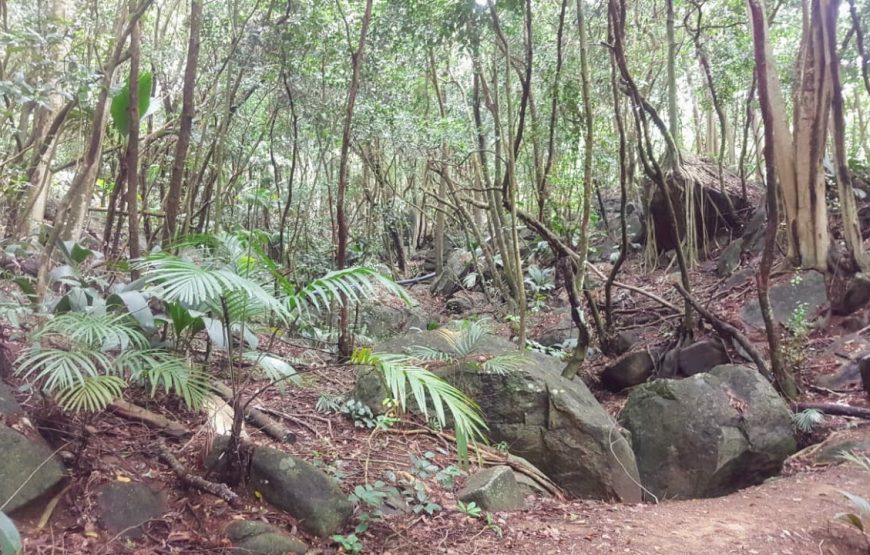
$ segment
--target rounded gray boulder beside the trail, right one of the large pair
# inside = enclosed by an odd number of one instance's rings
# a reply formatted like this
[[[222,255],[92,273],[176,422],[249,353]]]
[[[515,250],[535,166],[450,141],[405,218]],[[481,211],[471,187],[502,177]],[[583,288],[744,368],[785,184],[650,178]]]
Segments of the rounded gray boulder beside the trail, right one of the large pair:
[[[777,474],[795,450],[791,411],[757,371],[723,365],[636,387],[619,416],[644,487],[716,497]]]

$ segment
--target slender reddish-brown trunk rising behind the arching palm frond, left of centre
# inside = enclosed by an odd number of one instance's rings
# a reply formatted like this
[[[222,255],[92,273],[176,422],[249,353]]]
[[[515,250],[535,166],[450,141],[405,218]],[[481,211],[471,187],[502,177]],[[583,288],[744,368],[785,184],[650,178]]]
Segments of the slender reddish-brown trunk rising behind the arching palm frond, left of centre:
[[[345,195],[347,194],[347,166],[350,155],[350,131],[353,123],[353,108],[359,91],[360,69],[365,52],[366,37],[372,19],[372,0],[366,0],[365,13],[360,30],[359,45],[351,59],[352,74],[350,87],[347,91],[347,111],[344,118],[344,129],[341,134],[341,158],[338,165],[338,189],[335,198],[336,225],[338,228],[335,263],[339,269],[347,266],[347,216],[345,214]],[[339,315],[338,351],[341,356],[349,357],[353,352],[353,337],[350,333],[350,318],[347,310],[347,299],[342,299]]]

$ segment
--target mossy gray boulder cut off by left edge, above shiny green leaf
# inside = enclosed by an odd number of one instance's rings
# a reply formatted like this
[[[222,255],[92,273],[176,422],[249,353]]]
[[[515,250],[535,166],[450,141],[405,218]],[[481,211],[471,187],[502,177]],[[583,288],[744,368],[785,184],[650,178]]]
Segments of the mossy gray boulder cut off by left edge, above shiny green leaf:
[[[0,424],[0,503],[9,500],[4,512],[11,513],[51,493],[64,476],[63,465],[41,439],[31,439]]]

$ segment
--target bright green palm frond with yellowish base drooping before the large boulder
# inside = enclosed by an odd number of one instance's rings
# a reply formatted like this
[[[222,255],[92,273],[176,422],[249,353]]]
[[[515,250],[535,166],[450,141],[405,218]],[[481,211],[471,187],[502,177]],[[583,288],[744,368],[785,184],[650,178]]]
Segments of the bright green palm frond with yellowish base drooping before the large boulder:
[[[354,353],[352,362],[378,370],[402,410],[407,408],[409,389],[417,408],[427,420],[431,403],[438,423],[446,426],[446,407],[453,417],[460,460],[468,460],[469,441],[485,441],[487,426],[477,403],[444,379],[417,366],[414,359],[407,355],[372,353],[368,349],[360,349]]]

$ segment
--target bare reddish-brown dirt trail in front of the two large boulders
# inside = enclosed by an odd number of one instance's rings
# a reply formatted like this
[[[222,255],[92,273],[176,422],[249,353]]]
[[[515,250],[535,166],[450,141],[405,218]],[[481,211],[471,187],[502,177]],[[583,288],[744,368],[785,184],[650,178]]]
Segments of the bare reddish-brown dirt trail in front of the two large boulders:
[[[716,499],[658,505],[542,502],[457,553],[868,554],[870,543],[833,516],[870,498],[870,474],[846,466],[804,472]],[[486,534],[492,536],[492,534]],[[450,551],[448,551],[450,552]]]

